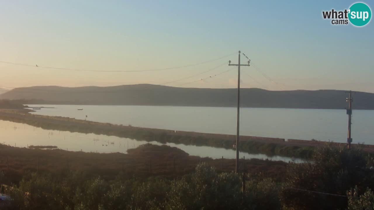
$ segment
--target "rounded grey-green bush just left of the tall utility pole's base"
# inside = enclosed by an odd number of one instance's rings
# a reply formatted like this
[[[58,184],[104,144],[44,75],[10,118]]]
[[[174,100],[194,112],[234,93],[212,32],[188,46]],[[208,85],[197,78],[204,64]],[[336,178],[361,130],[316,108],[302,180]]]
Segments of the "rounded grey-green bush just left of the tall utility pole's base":
[[[237,175],[218,174],[213,167],[202,163],[192,175],[172,182],[166,209],[239,209],[240,194]]]

